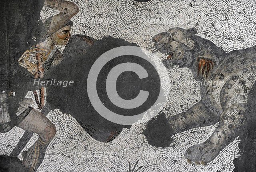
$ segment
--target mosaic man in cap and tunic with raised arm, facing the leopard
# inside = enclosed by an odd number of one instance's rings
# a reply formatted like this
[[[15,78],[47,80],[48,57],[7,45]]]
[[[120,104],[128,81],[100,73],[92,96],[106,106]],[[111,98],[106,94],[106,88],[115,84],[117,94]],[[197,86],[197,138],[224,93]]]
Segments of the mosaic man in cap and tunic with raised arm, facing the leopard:
[[[62,61],[62,54],[55,45],[66,45],[72,26],[70,19],[79,11],[76,4],[63,0],[45,0],[44,5],[60,13],[44,21],[44,27],[40,28],[40,38],[38,38],[41,42],[25,51],[18,60],[19,65],[26,68],[34,78],[43,78],[50,66]],[[10,121],[6,102],[8,97],[12,96],[14,96],[13,92],[0,94],[0,122],[4,124]],[[45,96],[46,88],[44,87],[32,91],[30,96],[19,101],[20,107],[16,113],[18,127],[39,135],[36,143],[23,154],[23,164],[28,171],[36,171],[40,166],[45,150],[56,134],[55,126],[43,114]],[[33,99],[36,105],[32,106]],[[6,128],[8,128],[7,125]]]

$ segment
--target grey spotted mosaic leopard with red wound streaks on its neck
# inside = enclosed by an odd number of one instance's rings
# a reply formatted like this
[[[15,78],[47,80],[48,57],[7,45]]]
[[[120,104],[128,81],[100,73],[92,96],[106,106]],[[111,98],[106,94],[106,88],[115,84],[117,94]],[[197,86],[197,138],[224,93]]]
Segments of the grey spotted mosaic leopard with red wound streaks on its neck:
[[[150,120],[144,131],[148,143],[167,147],[172,142],[166,138],[170,135],[216,124],[206,141],[187,148],[184,153],[188,163],[207,165],[245,132],[246,111],[250,109],[248,96],[256,81],[256,46],[227,52],[209,39],[198,36],[196,28],[179,27],[155,35],[152,42],[156,51],[163,54],[162,63],[168,71],[176,67],[191,71],[194,80],[201,83],[201,99],[185,112],[170,116],[161,111],[159,117]],[[205,82],[207,84],[202,84]],[[161,140],[156,132],[161,135],[159,131],[162,129],[153,131],[163,126],[162,121],[167,127],[166,132],[170,133],[162,134],[162,142],[167,145],[156,141]]]

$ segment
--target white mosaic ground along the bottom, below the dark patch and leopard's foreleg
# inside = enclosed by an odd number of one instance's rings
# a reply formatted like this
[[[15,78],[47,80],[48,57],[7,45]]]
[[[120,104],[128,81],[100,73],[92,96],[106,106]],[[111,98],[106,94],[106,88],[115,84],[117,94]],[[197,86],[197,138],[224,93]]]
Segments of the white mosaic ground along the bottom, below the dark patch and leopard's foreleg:
[[[204,142],[217,124],[176,134],[169,148],[156,148],[147,144],[145,136],[141,134],[144,124],[134,124],[131,129],[124,129],[112,142],[103,143],[92,139],[71,115],[55,109],[47,117],[56,126],[57,133],[46,150],[38,172],[124,172],[129,162],[133,166],[137,160],[138,166],[144,166],[141,169],[144,172],[230,172],[234,169],[233,159],[238,157],[239,140],[236,139],[207,166],[186,162],[185,150]],[[12,135],[12,140],[18,140],[23,132],[15,127],[6,134]],[[0,137],[5,136],[1,134]],[[35,139],[32,138],[34,142]],[[12,140],[5,145],[12,145]],[[29,144],[32,146],[33,142]],[[14,147],[3,148],[1,152],[10,154]]]

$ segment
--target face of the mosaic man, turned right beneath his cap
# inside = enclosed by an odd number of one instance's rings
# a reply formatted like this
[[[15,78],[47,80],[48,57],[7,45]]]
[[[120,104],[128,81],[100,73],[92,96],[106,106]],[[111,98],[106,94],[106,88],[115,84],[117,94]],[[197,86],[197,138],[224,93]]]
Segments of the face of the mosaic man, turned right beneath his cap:
[[[71,26],[65,26],[52,34],[51,39],[55,45],[66,45],[70,38]]]

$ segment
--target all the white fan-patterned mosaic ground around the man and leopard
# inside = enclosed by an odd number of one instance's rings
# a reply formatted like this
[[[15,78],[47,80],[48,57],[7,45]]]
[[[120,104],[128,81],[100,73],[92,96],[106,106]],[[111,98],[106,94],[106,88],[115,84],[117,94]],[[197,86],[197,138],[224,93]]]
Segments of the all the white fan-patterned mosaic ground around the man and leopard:
[[[141,47],[155,52],[152,37],[172,27],[196,27],[198,35],[211,40],[224,50],[243,49],[256,43],[256,2],[249,1],[204,1],[204,0],[151,0],[148,3],[136,3],[133,0],[77,0],[80,12],[72,19],[72,34],[83,34],[100,39],[103,36],[122,38],[135,42]],[[41,19],[54,14],[51,9],[43,9]],[[56,13],[55,13],[56,14]],[[62,47],[63,49],[63,47]],[[200,100],[198,85],[186,85],[193,81],[187,69],[172,69],[166,75],[170,77],[171,106],[168,115],[186,111]],[[180,105],[184,105],[182,108]],[[147,144],[142,133],[144,123],[134,124],[131,129],[124,129],[110,143],[92,139],[78,125],[71,115],[55,110],[47,116],[56,126],[57,133],[46,150],[39,172],[123,172],[132,167],[137,160],[141,171],[205,171],[230,172],[234,169],[234,158],[238,157],[236,138],[207,166],[188,164],[184,159],[186,148],[204,142],[214,131],[214,127],[202,127],[178,133],[174,143],[168,148],[156,148]],[[193,133],[191,132],[193,131]],[[10,154],[18,143],[24,130],[14,127],[7,133],[0,134],[0,153]],[[37,139],[33,137],[29,145]],[[29,146],[28,146],[29,147]],[[26,149],[26,148],[24,148]],[[19,156],[22,159],[22,156]]]

